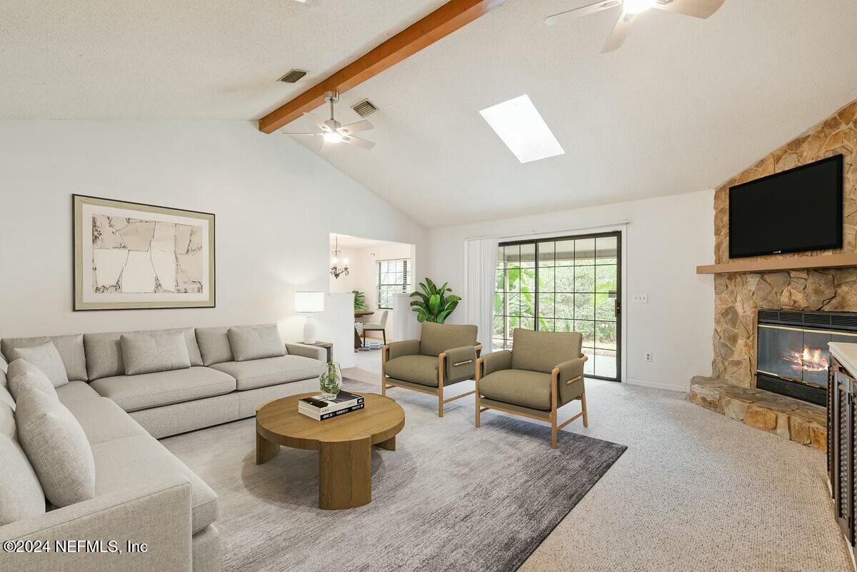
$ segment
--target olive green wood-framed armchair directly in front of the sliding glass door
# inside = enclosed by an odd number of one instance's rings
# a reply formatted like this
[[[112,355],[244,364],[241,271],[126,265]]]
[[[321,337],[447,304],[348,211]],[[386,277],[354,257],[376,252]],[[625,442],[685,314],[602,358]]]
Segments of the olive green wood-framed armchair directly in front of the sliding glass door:
[[[488,409],[550,423],[550,448],[557,432],[586,415],[582,336],[575,331],[512,333],[512,350],[483,355],[476,360],[476,426]],[[580,400],[580,413],[558,425],[559,409]]]

